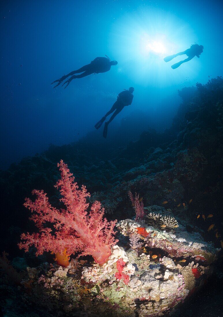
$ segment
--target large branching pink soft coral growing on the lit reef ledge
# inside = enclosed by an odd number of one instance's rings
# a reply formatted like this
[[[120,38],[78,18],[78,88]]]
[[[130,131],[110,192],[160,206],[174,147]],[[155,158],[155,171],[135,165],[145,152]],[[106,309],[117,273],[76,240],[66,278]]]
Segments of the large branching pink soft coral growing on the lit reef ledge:
[[[78,189],[73,174],[62,160],[57,166],[61,179],[55,187],[60,188],[60,200],[66,210],[52,207],[43,191],[33,190],[36,200],[32,202],[26,198],[24,206],[35,211],[30,219],[35,222],[39,233],[23,233],[21,239],[24,241],[19,243],[19,248],[28,251],[34,245],[36,255],[43,254],[44,251],[62,254],[65,249],[69,255],[81,251],[81,255],[92,255],[96,263],[103,264],[111,255],[111,247],[118,241],[114,238],[116,220],[108,222],[106,218],[103,219],[104,208],[98,201],[92,204],[88,214],[86,197],[90,194],[86,187],[82,185]],[[50,228],[45,227],[46,222],[54,223],[54,234]]]

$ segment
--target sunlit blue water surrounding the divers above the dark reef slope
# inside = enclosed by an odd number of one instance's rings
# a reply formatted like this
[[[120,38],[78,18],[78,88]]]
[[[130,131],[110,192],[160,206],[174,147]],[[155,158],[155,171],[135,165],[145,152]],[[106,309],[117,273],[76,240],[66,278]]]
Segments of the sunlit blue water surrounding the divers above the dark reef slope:
[[[1,2],[1,168],[86,135],[121,139],[120,125],[125,142],[147,127],[164,131],[179,107],[178,89],[222,74],[222,25],[221,1]],[[200,59],[175,70],[163,61],[194,42],[204,46]],[[118,61],[109,72],[66,89],[50,85],[105,54]],[[104,140],[94,125],[130,86],[133,103]]]

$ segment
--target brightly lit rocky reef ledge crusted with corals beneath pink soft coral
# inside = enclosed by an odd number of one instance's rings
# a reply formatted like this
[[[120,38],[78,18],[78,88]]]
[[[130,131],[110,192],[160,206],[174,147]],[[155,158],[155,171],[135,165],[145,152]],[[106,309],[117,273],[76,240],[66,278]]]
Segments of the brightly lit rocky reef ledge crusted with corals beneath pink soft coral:
[[[186,223],[170,209],[154,205],[144,210],[145,220],[117,223],[122,246],[113,246],[103,265],[77,258],[66,268],[23,263],[20,286],[12,291],[9,283],[5,288],[29,316],[27,307],[32,305],[48,316],[166,315],[204,285],[218,250],[203,240],[199,229],[188,233]]]

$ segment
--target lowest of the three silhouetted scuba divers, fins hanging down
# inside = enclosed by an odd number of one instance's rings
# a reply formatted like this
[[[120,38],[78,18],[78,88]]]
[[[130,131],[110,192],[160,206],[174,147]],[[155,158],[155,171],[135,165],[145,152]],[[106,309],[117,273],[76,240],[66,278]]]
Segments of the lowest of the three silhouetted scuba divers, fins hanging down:
[[[115,101],[115,103],[111,107],[111,109],[102,117],[101,120],[99,120],[95,124],[95,128],[99,129],[102,126],[103,122],[106,120],[107,116],[115,111],[113,113],[113,115],[111,116],[111,118],[107,122],[105,122],[104,131],[103,131],[103,137],[104,138],[107,137],[109,123],[115,118],[115,116],[118,113],[120,113],[120,111],[125,106],[131,105],[133,97],[134,97],[133,94],[132,94],[133,92],[134,92],[134,88],[130,87],[130,88],[128,88],[128,90],[124,89],[124,91],[122,91],[120,94],[118,94],[117,100]]]

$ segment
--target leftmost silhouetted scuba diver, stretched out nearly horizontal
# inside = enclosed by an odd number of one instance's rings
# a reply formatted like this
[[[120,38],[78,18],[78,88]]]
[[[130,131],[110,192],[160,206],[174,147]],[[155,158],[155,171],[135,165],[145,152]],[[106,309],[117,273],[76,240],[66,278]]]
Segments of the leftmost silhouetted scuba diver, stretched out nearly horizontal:
[[[83,78],[83,77],[86,77],[90,74],[99,74],[99,73],[108,72],[111,69],[111,66],[117,65],[118,62],[111,61],[107,55],[105,55],[105,56],[106,57],[96,57],[93,61],[90,62],[90,64],[84,65],[83,67],[81,67],[77,70],[74,70],[73,72],[70,72],[68,75],[62,76],[61,78],[53,81],[51,83],[51,85],[54,84],[55,82],[57,82],[56,86],[54,86],[54,88],[55,88],[55,87],[59,86],[62,83],[62,81],[64,81],[64,79],[71,76],[67,81],[65,81],[62,84],[62,86],[66,84],[66,86],[64,87],[64,88],[66,88],[73,79]],[[78,73],[82,73],[82,74],[75,75]]]

